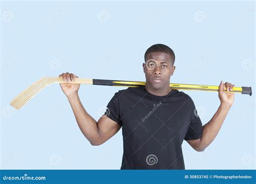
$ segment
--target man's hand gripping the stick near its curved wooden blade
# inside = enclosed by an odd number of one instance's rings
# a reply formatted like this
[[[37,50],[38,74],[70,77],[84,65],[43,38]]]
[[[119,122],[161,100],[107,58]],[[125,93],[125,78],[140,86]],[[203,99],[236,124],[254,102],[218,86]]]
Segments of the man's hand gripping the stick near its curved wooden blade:
[[[62,88],[63,93],[69,97],[72,94],[78,93],[78,89],[80,87],[80,84],[72,84],[69,82],[75,81],[74,78],[78,78],[75,74],[72,73],[62,73],[59,75],[60,78],[64,79],[66,83],[59,83],[60,87]]]

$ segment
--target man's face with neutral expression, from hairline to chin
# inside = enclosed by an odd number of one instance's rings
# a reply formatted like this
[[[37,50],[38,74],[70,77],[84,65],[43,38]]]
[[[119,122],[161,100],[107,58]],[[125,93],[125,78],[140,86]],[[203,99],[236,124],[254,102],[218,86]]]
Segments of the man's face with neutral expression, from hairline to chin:
[[[152,52],[147,54],[146,63],[143,63],[146,83],[157,90],[169,88],[170,78],[175,70],[172,62],[173,59],[166,53]]]

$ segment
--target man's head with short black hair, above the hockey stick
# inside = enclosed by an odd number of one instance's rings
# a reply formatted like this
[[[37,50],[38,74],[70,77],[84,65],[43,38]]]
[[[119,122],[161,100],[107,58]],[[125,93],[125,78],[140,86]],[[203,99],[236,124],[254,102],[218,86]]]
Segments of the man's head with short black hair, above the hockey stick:
[[[169,86],[171,75],[175,70],[175,55],[172,49],[163,44],[149,47],[144,55],[143,70],[146,82],[154,89],[160,90]]]

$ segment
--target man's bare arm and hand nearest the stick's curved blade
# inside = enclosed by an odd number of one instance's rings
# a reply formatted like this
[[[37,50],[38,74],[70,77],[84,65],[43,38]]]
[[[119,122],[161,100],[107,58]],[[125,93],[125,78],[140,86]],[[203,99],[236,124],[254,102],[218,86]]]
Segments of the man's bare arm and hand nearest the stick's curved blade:
[[[66,83],[60,83],[63,93],[68,97],[69,103],[76,117],[77,124],[83,135],[90,141],[92,145],[103,144],[120,130],[120,125],[112,121],[107,116],[100,117],[96,122],[84,109],[81,103],[78,90],[80,84],[70,83],[78,78],[72,73],[62,73],[59,75]]]

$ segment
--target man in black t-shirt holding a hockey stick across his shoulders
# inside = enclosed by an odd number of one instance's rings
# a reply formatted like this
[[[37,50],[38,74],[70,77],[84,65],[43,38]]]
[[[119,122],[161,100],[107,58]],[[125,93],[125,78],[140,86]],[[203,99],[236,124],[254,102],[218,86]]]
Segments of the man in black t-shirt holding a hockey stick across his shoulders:
[[[95,121],[79,100],[79,84],[70,84],[74,74],[63,73],[60,84],[68,97],[83,135],[92,145],[103,144],[123,127],[121,169],[185,169],[181,144],[185,139],[196,151],[204,151],[217,136],[234,102],[233,84],[221,81],[220,105],[211,120],[202,126],[190,96],[170,89],[175,55],[163,44],[152,45],[145,53],[145,86],[119,90],[107,104],[105,116]]]

